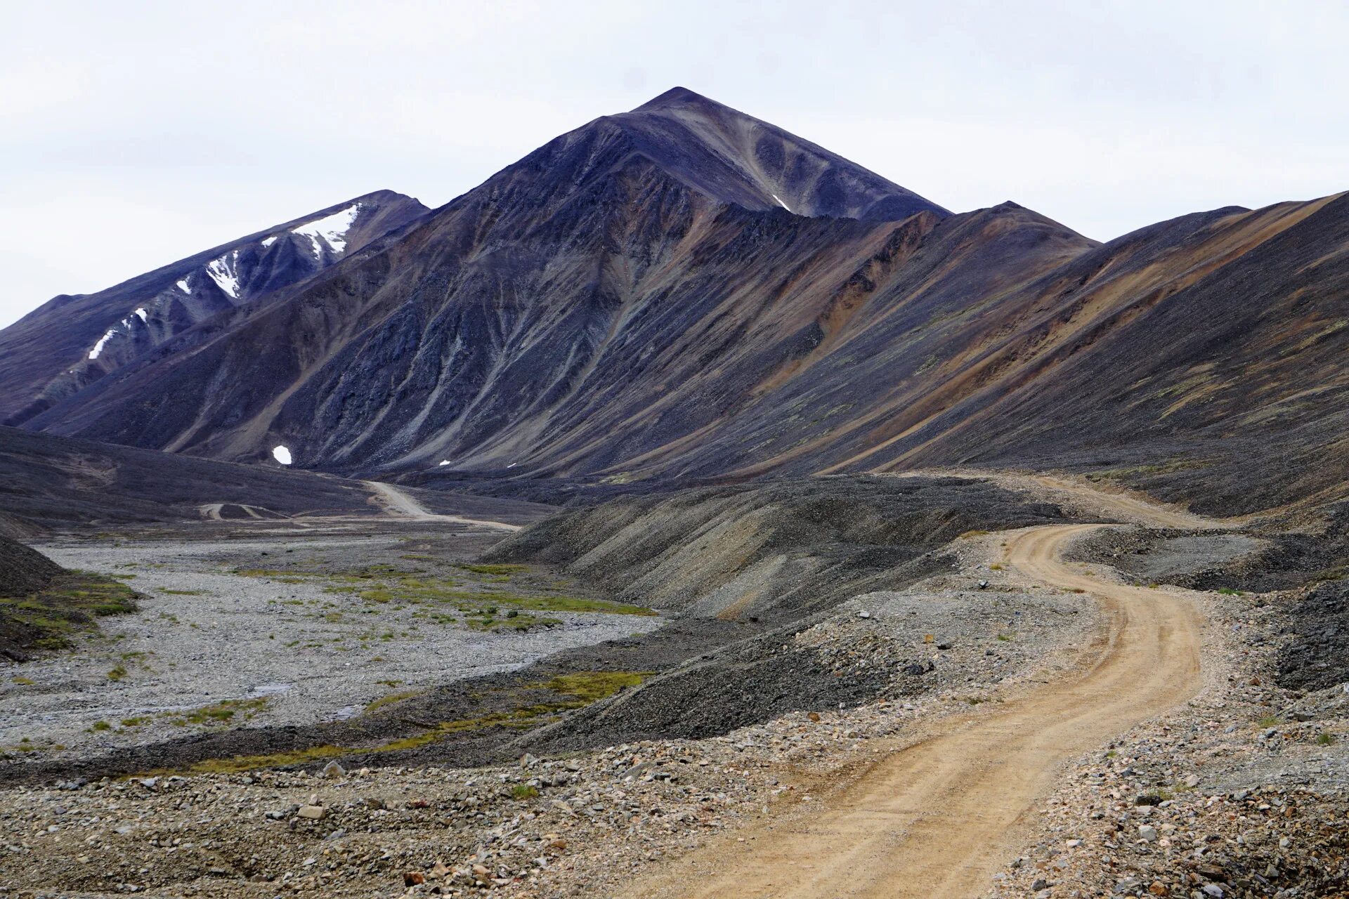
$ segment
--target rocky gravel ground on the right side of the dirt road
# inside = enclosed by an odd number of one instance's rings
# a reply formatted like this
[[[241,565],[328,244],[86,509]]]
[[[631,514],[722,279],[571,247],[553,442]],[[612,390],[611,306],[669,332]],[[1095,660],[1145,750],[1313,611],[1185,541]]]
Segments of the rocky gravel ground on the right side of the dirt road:
[[[1287,601],[1207,594],[1205,687],[1068,766],[992,898],[1344,896],[1349,683],[1275,685]]]

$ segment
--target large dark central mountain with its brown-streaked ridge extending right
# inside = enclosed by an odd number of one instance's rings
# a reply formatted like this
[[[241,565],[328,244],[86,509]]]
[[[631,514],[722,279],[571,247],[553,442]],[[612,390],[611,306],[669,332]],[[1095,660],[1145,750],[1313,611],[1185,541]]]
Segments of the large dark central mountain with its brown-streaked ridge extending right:
[[[1334,501],[1346,247],[1346,195],[1103,245],[951,214],[674,89],[26,426],[503,491],[981,464]]]

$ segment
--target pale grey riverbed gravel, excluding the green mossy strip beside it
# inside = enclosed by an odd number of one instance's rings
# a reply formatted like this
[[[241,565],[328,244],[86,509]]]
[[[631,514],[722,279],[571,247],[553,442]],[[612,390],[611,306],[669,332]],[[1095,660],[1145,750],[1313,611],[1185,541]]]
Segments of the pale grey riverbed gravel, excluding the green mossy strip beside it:
[[[453,558],[451,536],[468,534],[463,543],[472,555],[472,528],[440,531],[422,542],[449,543]],[[101,632],[81,638],[77,651],[4,669],[0,749],[61,759],[227,724],[337,720],[395,691],[511,671],[558,650],[660,624],[643,616],[548,612],[561,624],[478,632],[429,619],[418,607],[326,592],[331,582],[322,577],[231,573],[240,566],[331,571],[390,561],[436,567],[421,555],[426,546],[415,534],[43,546],[67,567],[134,576],[125,582],[146,598],[134,615],[103,619]],[[220,714],[216,704],[223,701],[239,704],[224,706],[228,722],[201,713],[216,706]],[[190,720],[194,712],[200,721]]]

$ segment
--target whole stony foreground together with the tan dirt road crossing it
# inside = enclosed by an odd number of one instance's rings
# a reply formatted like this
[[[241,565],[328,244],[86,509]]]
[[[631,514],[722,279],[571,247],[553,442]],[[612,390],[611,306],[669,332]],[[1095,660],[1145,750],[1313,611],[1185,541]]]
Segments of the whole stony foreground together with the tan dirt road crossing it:
[[[1349,694],[1273,686],[1278,602],[1064,557],[1090,527],[969,535],[958,571],[792,638],[885,674],[859,708],[472,770],[0,790],[0,895],[1341,895]]]

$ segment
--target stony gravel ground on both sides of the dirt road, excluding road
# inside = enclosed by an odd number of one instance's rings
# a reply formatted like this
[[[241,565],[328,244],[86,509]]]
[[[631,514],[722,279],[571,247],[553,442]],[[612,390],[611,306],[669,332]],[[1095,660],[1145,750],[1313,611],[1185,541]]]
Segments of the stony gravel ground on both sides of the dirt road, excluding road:
[[[996,567],[998,539],[958,540],[955,573],[854,598],[781,647],[880,679],[862,706],[476,770],[11,787],[0,895],[611,895],[724,829],[808,821],[938,718],[1052,675],[1097,616]],[[1344,895],[1349,693],[1275,686],[1291,600],[1203,602],[1202,691],[1066,766],[990,896]]]

